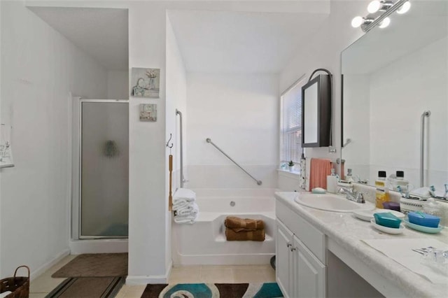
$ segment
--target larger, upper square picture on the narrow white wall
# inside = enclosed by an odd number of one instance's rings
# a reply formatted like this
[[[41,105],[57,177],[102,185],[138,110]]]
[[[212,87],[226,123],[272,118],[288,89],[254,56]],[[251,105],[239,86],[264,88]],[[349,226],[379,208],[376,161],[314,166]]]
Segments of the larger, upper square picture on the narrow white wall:
[[[158,99],[160,97],[160,69],[131,70],[131,96]]]

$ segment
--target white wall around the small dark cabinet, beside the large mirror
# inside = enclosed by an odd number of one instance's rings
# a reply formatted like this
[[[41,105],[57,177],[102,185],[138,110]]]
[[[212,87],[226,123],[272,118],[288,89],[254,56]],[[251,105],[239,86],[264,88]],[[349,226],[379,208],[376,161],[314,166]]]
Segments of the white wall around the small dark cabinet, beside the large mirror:
[[[280,91],[286,90],[297,78],[307,73],[309,77],[314,69],[325,68],[333,73],[332,134],[336,153],[328,148],[306,148],[307,167],[309,158],[329,158],[335,161],[341,153],[341,66],[340,54],[344,48],[356,41],[363,32],[351,27],[351,19],[356,15],[365,15],[369,1],[330,1],[330,16],[321,29],[304,41],[297,50],[295,58],[280,73]],[[307,171],[309,173],[309,170]]]

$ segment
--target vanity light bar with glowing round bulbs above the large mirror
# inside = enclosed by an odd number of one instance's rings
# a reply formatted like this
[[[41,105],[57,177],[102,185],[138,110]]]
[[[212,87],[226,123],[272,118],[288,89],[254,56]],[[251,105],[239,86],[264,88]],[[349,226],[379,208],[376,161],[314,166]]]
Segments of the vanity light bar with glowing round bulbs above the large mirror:
[[[388,0],[374,0],[367,6],[369,15],[366,17],[354,17],[351,20],[351,27],[361,27],[364,32],[369,31],[377,25],[381,29],[386,28],[391,23],[391,19],[388,17],[389,15],[395,11],[401,15],[406,13],[410,7],[411,3],[409,3],[409,0],[398,0],[395,3]]]

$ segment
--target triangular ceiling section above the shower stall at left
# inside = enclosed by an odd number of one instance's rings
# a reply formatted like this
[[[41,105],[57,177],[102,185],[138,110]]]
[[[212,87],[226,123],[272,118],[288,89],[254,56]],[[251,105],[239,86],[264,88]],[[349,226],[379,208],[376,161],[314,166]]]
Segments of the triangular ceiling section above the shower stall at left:
[[[30,7],[108,71],[127,71],[127,9]]]

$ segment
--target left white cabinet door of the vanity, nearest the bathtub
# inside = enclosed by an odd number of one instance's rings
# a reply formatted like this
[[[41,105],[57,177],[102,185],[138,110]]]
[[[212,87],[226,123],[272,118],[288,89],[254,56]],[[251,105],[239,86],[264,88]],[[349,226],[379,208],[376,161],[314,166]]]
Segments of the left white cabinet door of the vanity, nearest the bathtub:
[[[293,246],[293,233],[290,232],[279,220],[277,220],[276,233],[276,281],[285,297],[294,297],[292,292],[293,254],[290,248]]]

